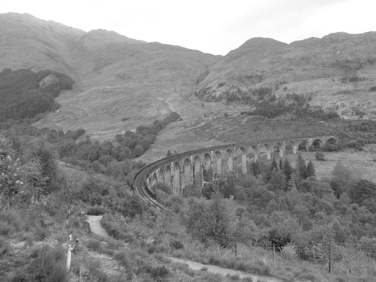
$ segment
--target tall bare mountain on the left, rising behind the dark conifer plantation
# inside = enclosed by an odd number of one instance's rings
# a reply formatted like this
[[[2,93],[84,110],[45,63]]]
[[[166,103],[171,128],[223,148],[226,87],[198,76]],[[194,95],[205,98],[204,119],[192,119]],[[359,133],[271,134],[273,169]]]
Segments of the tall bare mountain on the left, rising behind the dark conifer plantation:
[[[73,90],[56,99],[61,109],[35,125],[83,127],[99,137],[152,123],[171,111],[196,118],[207,109],[186,99],[197,78],[222,57],[113,31],[84,32],[29,14],[0,14],[0,26],[0,69],[49,68],[74,79]]]

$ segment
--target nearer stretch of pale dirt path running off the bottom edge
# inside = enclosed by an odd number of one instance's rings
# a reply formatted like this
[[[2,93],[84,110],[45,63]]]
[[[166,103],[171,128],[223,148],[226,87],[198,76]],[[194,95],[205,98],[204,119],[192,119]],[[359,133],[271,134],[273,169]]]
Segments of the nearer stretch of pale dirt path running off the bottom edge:
[[[240,271],[240,270],[223,268],[223,267],[219,267],[219,266],[216,266],[216,265],[200,264],[199,262],[185,261],[183,259],[178,259],[178,258],[170,258],[170,259],[173,262],[186,263],[193,270],[201,270],[203,267],[205,267],[206,271],[209,271],[211,273],[218,273],[218,274],[221,274],[223,276],[229,274],[229,275],[239,275],[239,277],[241,279],[246,278],[246,277],[251,277],[253,281],[259,281],[259,280],[265,281],[265,282],[279,282],[280,281],[280,280],[277,280],[275,278],[253,275],[253,274],[245,273],[245,272]]]

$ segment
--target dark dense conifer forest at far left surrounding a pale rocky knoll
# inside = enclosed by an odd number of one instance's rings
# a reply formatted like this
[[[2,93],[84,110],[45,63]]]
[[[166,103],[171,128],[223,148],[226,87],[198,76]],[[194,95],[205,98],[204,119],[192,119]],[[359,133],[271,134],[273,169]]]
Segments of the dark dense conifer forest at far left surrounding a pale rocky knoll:
[[[49,75],[56,81],[39,87],[39,82]],[[48,111],[55,111],[59,104],[55,98],[61,90],[72,89],[73,80],[64,73],[42,70],[35,73],[30,69],[12,71],[6,68],[0,72],[0,123],[8,119],[34,118]]]

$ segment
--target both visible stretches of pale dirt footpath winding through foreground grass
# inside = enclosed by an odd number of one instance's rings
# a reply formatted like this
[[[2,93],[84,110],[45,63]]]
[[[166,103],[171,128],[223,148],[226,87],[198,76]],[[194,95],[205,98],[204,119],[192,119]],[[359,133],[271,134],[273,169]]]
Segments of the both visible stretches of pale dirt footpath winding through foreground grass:
[[[106,230],[100,226],[100,220],[102,219],[102,215],[87,215],[87,222],[90,224],[90,230],[91,232],[101,235],[105,238],[110,237],[107,235]],[[230,274],[230,275],[239,275],[240,278],[245,278],[245,277],[252,277],[253,281],[258,281],[257,279],[261,279],[261,281],[265,282],[279,282],[279,280],[270,278],[270,277],[262,277],[262,276],[257,276],[257,275],[252,275],[249,273],[244,273],[243,271],[240,270],[232,270],[228,268],[223,268],[215,265],[208,265],[208,264],[200,264],[199,262],[194,262],[194,261],[185,261],[183,259],[178,259],[178,258],[170,258],[171,261],[173,262],[180,262],[180,263],[185,263],[188,264],[188,266],[193,269],[193,270],[201,270],[203,267],[207,269],[207,271],[212,272],[212,273],[218,273],[223,276]]]

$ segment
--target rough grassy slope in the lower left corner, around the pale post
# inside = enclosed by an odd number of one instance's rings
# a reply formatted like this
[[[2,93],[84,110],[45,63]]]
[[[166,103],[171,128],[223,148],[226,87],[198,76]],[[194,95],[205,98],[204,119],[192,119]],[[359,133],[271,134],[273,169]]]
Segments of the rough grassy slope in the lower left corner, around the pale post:
[[[25,209],[26,208],[26,209]],[[56,221],[48,206],[0,212],[0,277],[2,281],[232,281],[188,265],[171,262],[149,245],[130,246],[123,240],[90,233],[86,216],[76,205],[68,224]],[[81,208],[84,208],[81,206]],[[72,253],[71,271],[65,270],[68,234],[79,244]]]

